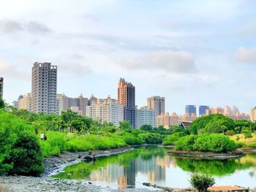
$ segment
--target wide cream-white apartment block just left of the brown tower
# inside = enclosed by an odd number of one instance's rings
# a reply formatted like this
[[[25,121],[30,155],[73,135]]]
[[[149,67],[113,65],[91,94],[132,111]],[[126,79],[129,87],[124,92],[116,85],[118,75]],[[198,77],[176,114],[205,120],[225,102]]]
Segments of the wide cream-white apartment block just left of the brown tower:
[[[92,101],[92,104],[86,107],[86,116],[118,126],[119,122],[124,120],[124,106],[108,96],[107,99]]]

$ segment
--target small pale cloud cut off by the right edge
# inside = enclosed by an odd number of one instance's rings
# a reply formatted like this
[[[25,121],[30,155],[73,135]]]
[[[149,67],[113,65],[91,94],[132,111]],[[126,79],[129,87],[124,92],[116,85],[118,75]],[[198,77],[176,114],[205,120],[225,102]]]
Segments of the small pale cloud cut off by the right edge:
[[[256,47],[240,47],[236,52],[236,59],[246,64],[256,64]]]

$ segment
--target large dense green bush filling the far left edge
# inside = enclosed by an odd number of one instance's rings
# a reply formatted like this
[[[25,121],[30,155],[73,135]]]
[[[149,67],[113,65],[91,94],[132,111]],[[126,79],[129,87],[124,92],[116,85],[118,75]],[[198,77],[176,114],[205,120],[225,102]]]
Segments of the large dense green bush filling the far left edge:
[[[37,175],[42,152],[34,128],[0,110],[0,174]]]

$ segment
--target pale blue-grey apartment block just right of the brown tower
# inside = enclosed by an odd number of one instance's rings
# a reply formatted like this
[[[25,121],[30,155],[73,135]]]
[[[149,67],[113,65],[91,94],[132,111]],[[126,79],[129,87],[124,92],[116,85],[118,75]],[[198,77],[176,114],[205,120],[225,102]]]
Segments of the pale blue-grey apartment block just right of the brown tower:
[[[137,110],[136,115],[136,128],[140,128],[143,125],[151,125],[154,127],[156,125],[156,113],[154,110],[148,109],[148,107],[140,107]]]

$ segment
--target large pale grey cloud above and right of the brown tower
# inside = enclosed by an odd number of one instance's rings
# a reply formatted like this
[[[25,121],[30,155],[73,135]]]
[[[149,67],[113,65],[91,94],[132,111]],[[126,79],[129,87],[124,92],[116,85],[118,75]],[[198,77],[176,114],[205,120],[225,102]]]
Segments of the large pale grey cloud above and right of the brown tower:
[[[186,51],[161,50],[148,55],[124,61],[127,69],[159,69],[171,73],[189,73],[195,71],[195,61],[191,53]]]

